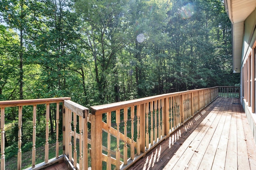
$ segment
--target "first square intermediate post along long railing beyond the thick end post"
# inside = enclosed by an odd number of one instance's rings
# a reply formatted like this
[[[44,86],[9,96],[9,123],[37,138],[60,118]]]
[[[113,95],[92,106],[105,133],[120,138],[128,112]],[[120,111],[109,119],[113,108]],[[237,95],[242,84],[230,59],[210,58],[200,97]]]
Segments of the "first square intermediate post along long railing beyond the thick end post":
[[[145,139],[146,139],[146,133],[145,133],[145,104],[140,105],[140,151],[142,153],[145,153]]]

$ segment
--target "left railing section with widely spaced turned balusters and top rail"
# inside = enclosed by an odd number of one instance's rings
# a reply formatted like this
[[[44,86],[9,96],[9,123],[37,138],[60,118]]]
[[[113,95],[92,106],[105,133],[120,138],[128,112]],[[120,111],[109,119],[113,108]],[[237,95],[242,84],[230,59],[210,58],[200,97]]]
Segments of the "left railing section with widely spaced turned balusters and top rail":
[[[30,99],[30,100],[11,100],[11,101],[0,101],[0,108],[1,108],[1,170],[5,169],[5,155],[4,155],[4,134],[5,134],[5,120],[4,120],[4,114],[5,114],[5,108],[6,107],[16,107],[18,106],[18,153],[17,153],[17,169],[20,170],[22,167],[22,160],[21,160],[21,146],[22,146],[22,109],[23,106],[33,106],[33,121],[32,121],[32,167],[35,168],[38,166],[35,165],[35,159],[36,159],[36,106],[39,104],[46,104],[46,142],[45,142],[45,161],[44,164],[42,164],[41,167],[47,166],[48,164],[51,164],[52,162],[55,162],[58,158],[64,158],[59,157],[58,155],[58,130],[59,130],[59,104],[64,102],[64,100],[70,100],[69,97],[66,98],[45,98],[45,99]],[[49,114],[50,114],[50,104],[56,103],[56,158],[55,160],[48,159],[49,155]],[[40,168],[40,166],[39,166]]]

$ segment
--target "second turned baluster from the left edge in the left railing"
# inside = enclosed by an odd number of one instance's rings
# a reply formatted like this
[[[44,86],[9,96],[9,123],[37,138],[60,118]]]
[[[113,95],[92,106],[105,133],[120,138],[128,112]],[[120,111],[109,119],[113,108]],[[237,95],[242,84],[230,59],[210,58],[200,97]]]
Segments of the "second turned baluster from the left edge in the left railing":
[[[22,127],[22,106],[19,106],[19,116],[18,116],[18,165],[17,169],[21,170],[21,131]]]

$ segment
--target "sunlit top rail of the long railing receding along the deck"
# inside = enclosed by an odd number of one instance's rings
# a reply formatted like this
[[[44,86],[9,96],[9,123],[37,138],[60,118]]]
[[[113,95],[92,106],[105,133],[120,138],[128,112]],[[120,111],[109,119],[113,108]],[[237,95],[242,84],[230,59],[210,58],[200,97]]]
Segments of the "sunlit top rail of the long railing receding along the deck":
[[[127,100],[123,102],[116,102],[116,103],[111,103],[111,104],[104,104],[104,105],[98,105],[98,106],[91,106],[91,113],[93,115],[99,115],[102,113],[106,113],[109,111],[113,111],[116,109],[123,109],[124,107],[130,107],[130,106],[137,106],[139,104],[144,104],[146,102],[151,102],[152,100],[159,100],[163,98],[168,98],[171,96],[177,96],[180,94],[186,94],[186,93],[191,93],[191,92],[197,92],[200,90],[206,90],[206,89],[212,89],[212,88],[217,88],[216,87],[211,87],[211,88],[201,88],[201,89],[194,89],[194,90],[187,90],[187,91],[182,91],[182,92],[173,92],[173,93],[168,93],[168,94],[160,94],[156,96],[150,96],[146,98],[139,98],[139,99],[134,99],[134,100]]]

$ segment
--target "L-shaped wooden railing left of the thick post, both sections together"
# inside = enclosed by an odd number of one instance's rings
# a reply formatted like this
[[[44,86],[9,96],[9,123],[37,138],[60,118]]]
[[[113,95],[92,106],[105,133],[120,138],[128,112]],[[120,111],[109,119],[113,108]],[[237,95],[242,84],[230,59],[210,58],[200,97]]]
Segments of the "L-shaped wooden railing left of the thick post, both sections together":
[[[44,105],[46,110],[46,130],[45,130],[45,149],[44,149],[44,162],[36,165],[36,116],[37,116],[37,106]],[[49,117],[50,117],[50,104],[56,105],[56,156],[49,160]],[[63,154],[59,154],[59,123],[60,123],[60,106],[64,104],[63,109]],[[1,170],[5,169],[5,152],[4,152],[4,141],[5,141],[5,109],[6,107],[18,107],[18,153],[17,153],[17,169],[22,169],[22,108],[23,106],[32,106],[32,166],[28,169],[41,169],[50,164],[54,164],[60,160],[66,158],[67,162],[74,167],[77,167],[76,164],[76,139],[80,139],[80,150],[79,150],[79,164],[80,169],[86,169],[88,164],[86,162],[88,160],[88,154],[84,154],[83,152],[87,149],[87,115],[88,110],[86,107],[80,106],[72,101],[70,98],[47,98],[47,99],[34,99],[34,100],[14,100],[14,101],[0,101],[1,108],[1,120],[0,120],[0,129],[1,129]],[[61,114],[62,115],[62,114]],[[79,124],[79,133],[76,132],[76,118],[78,116],[78,124]],[[73,120],[72,120],[73,117]],[[71,121],[73,122],[74,127],[71,128]],[[67,129],[67,130],[65,130]],[[72,130],[73,129],[73,130]],[[71,139],[74,137],[74,159],[72,157],[72,144]],[[82,140],[81,140],[82,139]],[[84,150],[82,150],[84,149]],[[78,168],[79,168],[78,164]]]

